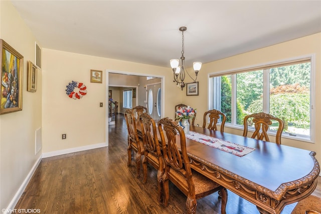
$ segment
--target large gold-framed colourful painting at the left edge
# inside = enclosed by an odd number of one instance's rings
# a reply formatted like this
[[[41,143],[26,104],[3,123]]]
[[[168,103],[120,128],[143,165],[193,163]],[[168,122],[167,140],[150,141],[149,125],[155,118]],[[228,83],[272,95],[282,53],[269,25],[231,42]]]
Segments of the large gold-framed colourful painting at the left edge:
[[[24,57],[4,40],[1,46],[0,115],[22,111]]]

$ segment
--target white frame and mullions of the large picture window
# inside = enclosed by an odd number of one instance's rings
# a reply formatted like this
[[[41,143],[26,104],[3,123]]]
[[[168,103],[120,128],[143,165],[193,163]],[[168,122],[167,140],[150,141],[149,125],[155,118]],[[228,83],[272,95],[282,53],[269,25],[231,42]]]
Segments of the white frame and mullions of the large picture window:
[[[289,133],[282,133],[282,138],[288,138],[288,139],[293,139],[293,140],[299,140],[299,141],[304,141],[308,143],[314,143],[314,127],[315,127],[315,121],[314,121],[314,115],[315,115],[315,110],[314,110],[314,97],[315,97],[315,54],[308,54],[308,55],[303,55],[303,56],[298,56],[298,57],[293,57],[293,58],[288,58],[288,59],[282,59],[282,60],[277,60],[277,61],[271,61],[271,62],[266,62],[266,63],[261,63],[261,64],[256,64],[256,65],[250,65],[246,67],[240,67],[240,68],[234,68],[234,69],[229,69],[229,70],[223,70],[219,72],[212,72],[208,73],[208,109],[213,109],[213,84],[212,84],[212,78],[213,77],[218,77],[218,76],[224,76],[224,75],[232,75],[232,74],[237,74],[237,73],[242,73],[242,72],[248,72],[248,71],[254,71],[254,70],[264,70],[268,69],[271,67],[281,67],[282,65],[289,65],[289,64],[299,64],[300,62],[304,61],[309,61],[310,62],[310,134],[309,136],[307,135],[290,135]],[[297,63],[295,63],[297,62]],[[265,74],[263,71],[263,75],[268,75]],[[269,79],[269,78],[267,78]],[[231,84],[236,85],[236,78],[231,78]],[[263,82],[263,85],[265,82]],[[263,86],[264,87],[264,86]],[[225,123],[225,127],[228,128],[233,128],[233,129],[239,129],[243,130],[242,125],[237,125],[236,124],[236,87],[232,87],[232,97],[231,97],[231,123]],[[263,99],[267,98],[264,97],[264,89],[263,89]],[[268,99],[268,98],[267,98]],[[264,108],[264,106],[263,106]],[[251,130],[249,130],[251,132]],[[275,136],[275,131],[268,131],[269,135]]]

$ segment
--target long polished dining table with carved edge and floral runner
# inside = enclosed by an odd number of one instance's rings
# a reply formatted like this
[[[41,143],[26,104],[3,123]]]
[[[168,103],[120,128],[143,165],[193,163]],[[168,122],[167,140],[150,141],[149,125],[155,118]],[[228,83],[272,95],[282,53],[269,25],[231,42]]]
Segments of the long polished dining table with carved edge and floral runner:
[[[280,213],[304,199],[320,173],[313,151],[192,125],[186,147],[194,170],[255,204],[260,213]]]

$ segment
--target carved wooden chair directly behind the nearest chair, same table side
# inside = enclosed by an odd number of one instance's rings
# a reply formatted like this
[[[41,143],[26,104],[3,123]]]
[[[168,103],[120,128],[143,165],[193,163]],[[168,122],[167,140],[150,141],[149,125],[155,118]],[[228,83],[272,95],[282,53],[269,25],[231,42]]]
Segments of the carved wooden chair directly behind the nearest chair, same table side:
[[[141,134],[144,145],[144,157],[142,159],[143,168],[143,182],[147,181],[147,162],[157,169],[157,191],[158,191],[158,202],[163,203],[163,174],[164,174],[164,164],[163,156],[161,153],[161,146],[159,145],[156,131],[155,121],[147,114],[143,113],[139,116]]]

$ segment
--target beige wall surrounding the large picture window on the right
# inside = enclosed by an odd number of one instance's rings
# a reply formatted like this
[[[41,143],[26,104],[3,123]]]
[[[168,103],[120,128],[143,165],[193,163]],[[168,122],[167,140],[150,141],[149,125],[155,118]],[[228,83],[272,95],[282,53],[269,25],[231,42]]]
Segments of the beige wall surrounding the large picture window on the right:
[[[314,81],[314,122],[321,120],[321,33],[300,39],[284,42],[270,47],[258,49],[233,57],[206,63],[199,73],[199,96],[183,96],[183,102],[197,109],[195,124],[203,124],[203,114],[208,110],[208,74],[220,71],[232,70],[267,62],[279,61],[308,54],[315,54]],[[294,146],[316,152],[316,159],[321,162],[321,132],[315,124],[314,142],[307,143],[291,139],[282,139],[283,145]],[[225,128],[225,132],[242,135],[243,130]],[[272,141],[274,141],[273,139]]]

